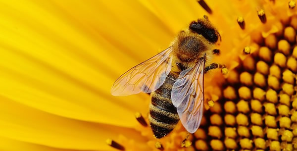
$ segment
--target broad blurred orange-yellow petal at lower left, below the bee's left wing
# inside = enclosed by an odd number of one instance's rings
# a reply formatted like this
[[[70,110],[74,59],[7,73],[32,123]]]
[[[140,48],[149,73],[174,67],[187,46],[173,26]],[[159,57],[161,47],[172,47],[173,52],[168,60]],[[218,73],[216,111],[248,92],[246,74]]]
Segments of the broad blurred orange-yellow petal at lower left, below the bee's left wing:
[[[118,134],[144,141],[129,128],[68,119],[0,97],[0,137],[61,149],[107,150]]]

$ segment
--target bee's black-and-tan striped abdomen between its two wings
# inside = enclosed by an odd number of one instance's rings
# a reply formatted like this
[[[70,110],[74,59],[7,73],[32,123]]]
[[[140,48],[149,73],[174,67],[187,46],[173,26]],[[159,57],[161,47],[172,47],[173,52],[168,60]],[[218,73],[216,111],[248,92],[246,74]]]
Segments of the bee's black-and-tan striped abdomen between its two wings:
[[[178,75],[169,73],[164,84],[150,94],[149,125],[156,138],[169,134],[179,121],[176,107],[171,101],[171,90]]]

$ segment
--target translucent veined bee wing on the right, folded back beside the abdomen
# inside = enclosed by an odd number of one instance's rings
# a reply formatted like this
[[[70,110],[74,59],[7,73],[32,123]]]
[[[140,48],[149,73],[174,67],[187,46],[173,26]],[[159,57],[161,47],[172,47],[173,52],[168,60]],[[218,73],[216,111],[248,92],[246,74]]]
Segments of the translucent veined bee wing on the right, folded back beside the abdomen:
[[[197,131],[203,114],[204,64],[205,60],[201,59],[195,67],[183,70],[172,87],[172,103],[190,133]]]

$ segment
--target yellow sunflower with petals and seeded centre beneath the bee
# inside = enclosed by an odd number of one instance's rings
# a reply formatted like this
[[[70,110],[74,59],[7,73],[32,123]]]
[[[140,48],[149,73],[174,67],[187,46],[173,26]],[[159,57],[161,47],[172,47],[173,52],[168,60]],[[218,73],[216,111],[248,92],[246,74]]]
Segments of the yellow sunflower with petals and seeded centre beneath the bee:
[[[297,150],[294,0],[2,0],[0,150]],[[114,80],[207,15],[228,71],[205,74],[198,131],[157,140],[147,94]],[[222,72],[227,73],[225,75]]]

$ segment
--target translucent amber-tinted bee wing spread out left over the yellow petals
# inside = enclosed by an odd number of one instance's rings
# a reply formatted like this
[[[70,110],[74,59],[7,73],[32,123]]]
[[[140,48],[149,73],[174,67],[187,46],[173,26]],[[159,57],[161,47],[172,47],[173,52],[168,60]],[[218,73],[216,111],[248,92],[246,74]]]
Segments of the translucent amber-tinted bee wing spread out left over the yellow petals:
[[[171,71],[171,47],[136,65],[120,76],[111,88],[113,96],[128,96],[157,90]]]

